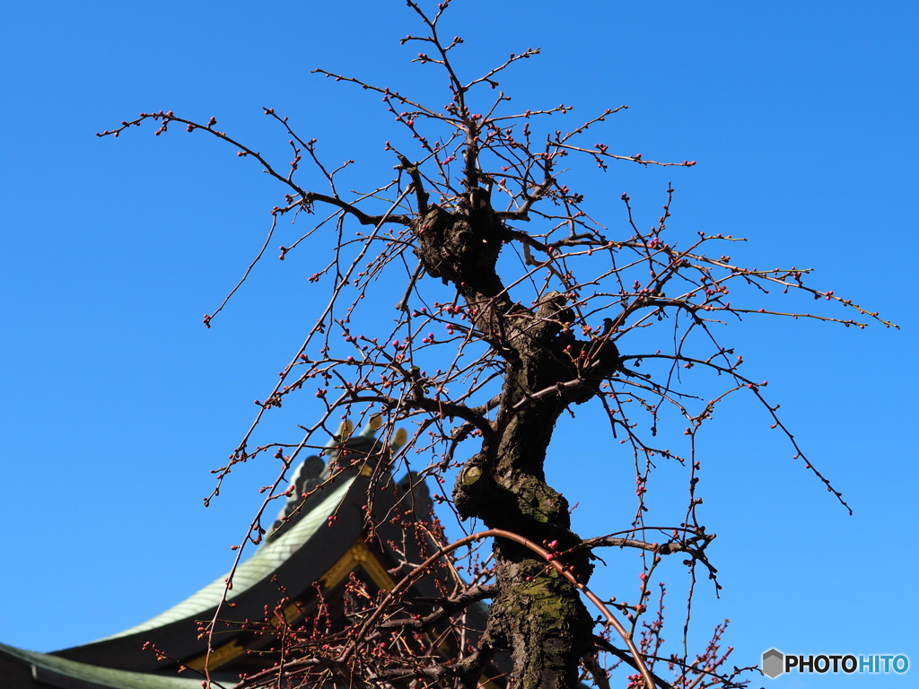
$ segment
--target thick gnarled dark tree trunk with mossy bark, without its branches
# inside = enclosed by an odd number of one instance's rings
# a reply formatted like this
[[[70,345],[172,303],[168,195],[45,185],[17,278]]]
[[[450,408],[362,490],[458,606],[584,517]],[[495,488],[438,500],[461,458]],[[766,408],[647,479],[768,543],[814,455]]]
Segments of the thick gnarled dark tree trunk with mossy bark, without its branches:
[[[550,549],[568,551],[568,502],[545,480],[552,429],[568,404],[590,399],[618,367],[618,352],[602,337],[579,341],[566,298],[550,293],[522,306],[495,271],[507,230],[487,193],[472,187],[457,209],[431,207],[416,221],[417,254],[428,274],[453,283],[482,339],[505,361],[493,433],[462,469],[453,498],[463,517],[515,532]],[[578,662],[591,647],[592,622],[574,586],[522,546],[494,547],[499,594],[486,640],[511,650],[516,681],[525,689],[573,689]],[[583,550],[562,562],[586,582]]]

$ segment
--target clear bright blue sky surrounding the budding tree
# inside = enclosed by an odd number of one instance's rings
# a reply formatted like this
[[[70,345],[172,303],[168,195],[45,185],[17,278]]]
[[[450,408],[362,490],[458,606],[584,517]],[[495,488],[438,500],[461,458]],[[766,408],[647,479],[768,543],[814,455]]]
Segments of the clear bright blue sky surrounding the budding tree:
[[[703,436],[700,514],[719,534],[711,552],[725,590],[716,600],[700,586],[695,610],[698,638],[732,619],[737,664],[772,646],[904,652],[914,677],[919,11],[907,2],[563,9],[458,0],[452,19],[471,67],[542,47],[506,81],[517,105],[565,102],[575,122],[626,103],[598,140],[621,153],[698,160],[692,169],[614,165],[605,175],[584,164],[569,184],[608,208],[610,227],[621,226],[623,191],[653,222],[673,181],[672,228],[745,236],[749,246],[735,255],[816,267],[815,286],[903,326],[858,332],[770,319],[725,333],[745,352],[747,373],[770,380],[771,401],[856,514],[738,399]],[[396,0],[6,6],[0,641],[51,650],[100,638],[228,569],[274,468],[234,473],[205,510],[209,470],[312,322],[304,278],[314,269],[301,255],[268,260],[210,331],[201,325],[255,254],[283,192],[251,161],[181,130],[133,130],[118,141],[94,133],[172,109],[217,116],[223,130],[279,152],[286,137],[261,114],[275,107],[320,140],[326,160],[355,158],[351,184],[366,187],[391,171],[382,143],[394,123],[378,98],[309,71],[414,85],[446,102],[440,81],[407,64],[413,51],[398,45],[416,28]],[[318,412],[306,397],[302,423]],[[589,415],[580,427],[562,425],[549,468],[580,503],[584,536],[623,527],[633,497],[628,472],[611,468],[615,449],[591,425]],[[679,494],[676,472],[672,480]],[[662,490],[671,490],[663,478]],[[634,595],[637,581],[615,574],[633,563],[609,561],[614,571],[596,576],[596,591]],[[675,563],[667,577],[674,641],[681,569]]]

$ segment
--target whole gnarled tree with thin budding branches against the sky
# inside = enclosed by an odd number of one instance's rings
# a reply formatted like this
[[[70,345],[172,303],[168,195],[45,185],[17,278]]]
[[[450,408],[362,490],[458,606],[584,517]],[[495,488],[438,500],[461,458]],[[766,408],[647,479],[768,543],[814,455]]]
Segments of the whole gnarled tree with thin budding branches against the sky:
[[[697,656],[665,655],[663,586],[661,601],[652,609],[652,579],[663,558],[678,554],[685,559],[692,582],[699,568],[710,578],[716,573],[706,555],[713,536],[697,518],[701,498],[693,443],[715,406],[738,390],[754,395],[803,458],[778,407],[766,401],[766,384],[746,377],[742,357],[720,344],[720,326],[751,314],[859,328],[865,323],[853,320],[858,317],[890,323],[833,292],[809,287],[804,281],[808,270],[761,270],[732,262],[724,247],[742,241],[738,238],[698,232],[691,241],[675,241],[668,232],[673,188],[666,190],[663,213],[650,230],[640,229],[627,195],[588,207],[565,183],[568,164],[580,161],[605,170],[611,164],[694,163],[647,160],[586,143],[585,132],[620,108],[607,109],[573,130],[538,129],[571,108],[514,110],[498,78],[539,50],[512,53],[476,78],[457,73],[451,55],[463,40],[440,32],[449,4],[446,0],[427,12],[409,0],[424,30],[402,40],[419,47],[413,62],[446,76],[446,107],[357,77],[316,70],[380,97],[410,134],[411,150],[386,144],[395,174],[376,188],[342,191],[338,175],[351,162],[335,169],[323,164],[316,141],[301,138],[287,118],[270,108],[266,115],[289,138],[289,164],[276,164],[218,130],[216,119],[199,122],[172,111],[142,113],[100,134],[117,137],[151,120],[159,127],[157,134],[182,126],[254,158],[286,192],[284,203],[271,211],[270,232],[255,261],[285,218],[311,224],[295,242],[280,247],[281,260],[318,241],[320,233],[335,236],[334,250],[319,257],[321,265],[310,278],[328,290],[329,298],[317,309],[315,323],[277,385],[257,402],[255,422],[221,468],[218,490],[235,464],[275,453],[281,472],[270,486],[264,511],[271,500],[289,494],[285,472],[304,450],[322,448],[328,435],[346,442],[340,430],[346,416],[381,414],[387,433],[399,422],[412,431],[401,450],[376,457],[373,470],[381,476],[384,470],[411,465],[417,480],[453,480],[449,495],[435,496],[448,505],[444,514],[452,511],[461,520],[476,518],[487,526],[459,544],[442,542],[431,563],[482,538],[493,539],[492,556],[471,562],[469,581],[430,604],[424,614],[404,612],[395,606],[398,592],[391,592],[370,602],[367,615],[346,632],[317,637],[314,629],[291,648],[292,654],[299,651],[299,659],[291,655],[281,669],[243,684],[268,685],[277,682],[279,672],[303,684],[335,677],[353,683],[360,677],[367,685],[474,686],[494,653],[509,650],[515,682],[527,689],[569,689],[586,676],[583,672],[607,687],[610,668],[620,663],[630,666],[627,683],[632,686],[743,685],[741,671],[728,669],[730,649],[720,649],[723,627]],[[305,163],[312,165],[309,175]],[[315,179],[317,174],[327,186],[324,191],[302,186],[301,177]],[[613,213],[614,205],[616,229],[591,214],[597,206]],[[779,310],[767,298],[776,290],[835,302],[853,318]],[[394,306],[390,326],[374,318],[381,299]],[[205,317],[209,327],[225,303]],[[706,373],[721,385],[709,401],[696,391],[705,388],[699,380]],[[304,428],[297,442],[255,446],[265,414],[301,392],[323,402],[323,417]],[[569,503],[547,484],[544,472],[556,421],[585,403],[602,408],[608,421],[604,433],[628,448],[613,460],[633,462],[636,482],[622,488],[622,498],[637,497],[630,524],[591,538],[573,533]],[[677,427],[685,428],[686,449],[660,444],[659,423],[681,424]],[[829,480],[804,461],[845,505]],[[645,523],[645,487],[661,462],[685,466],[688,481],[685,516],[666,527]],[[260,512],[251,525],[251,541],[265,533],[262,522]],[[599,548],[634,548],[647,557],[635,603],[602,601],[590,594],[604,611],[606,627],[596,635],[595,619],[581,594],[587,591]],[[407,630],[459,624],[470,604],[486,598],[491,599],[488,625],[474,649],[437,657],[380,643]],[[628,628],[619,625],[617,615]],[[316,641],[320,637],[322,644]],[[370,644],[373,653],[365,652]],[[659,676],[661,668],[669,679]]]

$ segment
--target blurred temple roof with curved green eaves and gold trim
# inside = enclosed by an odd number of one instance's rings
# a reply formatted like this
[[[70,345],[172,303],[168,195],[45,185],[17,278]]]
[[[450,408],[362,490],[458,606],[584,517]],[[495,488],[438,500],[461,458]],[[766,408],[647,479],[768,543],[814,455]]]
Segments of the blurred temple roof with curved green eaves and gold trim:
[[[356,582],[372,592],[391,589],[437,547],[424,536],[425,525],[433,527],[424,482],[412,474],[391,480],[384,474],[387,463],[378,463],[382,453],[405,442],[405,434],[384,446],[375,439],[379,426],[373,420],[351,435],[349,424],[343,424],[322,457],[301,463],[278,521],[236,567],[232,589],[227,590],[229,575],[221,576],[136,627],[70,649],[39,653],[0,644],[0,686],[200,689],[207,663],[215,686],[232,687],[243,674],[271,668],[280,656],[277,635],[265,633],[264,625],[257,630],[223,620],[264,621],[273,611],[295,627],[322,605],[323,615],[335,624],[335,617],[348,615],[348,591]],[[368,503],[371,480],[375,489]],[[368,510],[373,519],[367,518]],[[442,597],[438,576],[443,575],[420,578],[410,593],[428,600]],[[471,613],[476,618],[471,627],[483,628],[484,605]],[[215,617],[221,621],[209,649],[201,624]],[[186,669],[180,672],[182,666]]]

